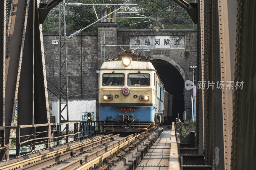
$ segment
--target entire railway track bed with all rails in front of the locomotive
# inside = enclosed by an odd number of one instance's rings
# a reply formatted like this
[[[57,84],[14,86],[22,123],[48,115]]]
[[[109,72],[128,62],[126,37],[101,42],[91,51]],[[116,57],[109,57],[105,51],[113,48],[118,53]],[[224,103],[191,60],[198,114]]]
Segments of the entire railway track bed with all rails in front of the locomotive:
[[[3,169],[107,169],[135,168],[162,133],[151,128],[126,137],[104,136],[3,166]]]

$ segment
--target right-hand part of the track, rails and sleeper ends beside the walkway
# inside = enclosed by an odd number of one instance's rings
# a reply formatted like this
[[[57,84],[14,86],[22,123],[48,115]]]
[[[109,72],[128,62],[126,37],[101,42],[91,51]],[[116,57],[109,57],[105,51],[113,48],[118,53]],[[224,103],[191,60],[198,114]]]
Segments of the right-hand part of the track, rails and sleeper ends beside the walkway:
[[[134,169],[161,132],[162,129],[152,128],[146,133],[119,137],[91,151],[76,153],[47,169]]]

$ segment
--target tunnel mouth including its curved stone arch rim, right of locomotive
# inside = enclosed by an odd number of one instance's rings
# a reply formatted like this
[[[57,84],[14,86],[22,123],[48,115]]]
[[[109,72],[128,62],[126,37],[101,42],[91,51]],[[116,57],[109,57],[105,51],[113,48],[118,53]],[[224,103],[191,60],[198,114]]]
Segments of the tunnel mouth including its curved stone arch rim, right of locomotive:
[[[172,122],[178,117],[183,121],[183,111],[188,91],[185,90],[185,82],[188,76],[179,63],[165,55],[152,55],[151,63],[157,70],[164,83],[165,90],[173,96]],[[185,100],[184,100],[185,99]]]

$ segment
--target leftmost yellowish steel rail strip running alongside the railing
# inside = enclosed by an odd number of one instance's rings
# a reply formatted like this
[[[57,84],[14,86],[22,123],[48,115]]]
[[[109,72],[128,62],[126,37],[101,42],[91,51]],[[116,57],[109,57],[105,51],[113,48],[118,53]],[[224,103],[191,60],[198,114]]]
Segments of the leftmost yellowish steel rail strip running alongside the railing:
[[[109,134],[109,135],[97,137],[95,139],[83,141],[78,144],[70,145],[65,148],[61,148],[52,152],[48,152],[48,153],[38,155],[29,159],[12,163],[6,166],[2,166],[1,170],[18,169],[18,168],[34,170],[35,166],[42,167],[41,165],[42,163],[44,165],[49,165],[50,162],[53,162],[53,161],[55,162],[56,158],[58,160],[61,160],[61,158],[67,157],[68,154],[72,155],[73,154],[72,152],[74,152],[74,150],[80,150],[82,148],[91,149],[92,147],[95,147],[95,145],[98,146],[99,143],[105,143],[112,140],[113,138],[118,138],[118,137],[119,137],[119,134],[115,136],[111,136],[111,134]]]

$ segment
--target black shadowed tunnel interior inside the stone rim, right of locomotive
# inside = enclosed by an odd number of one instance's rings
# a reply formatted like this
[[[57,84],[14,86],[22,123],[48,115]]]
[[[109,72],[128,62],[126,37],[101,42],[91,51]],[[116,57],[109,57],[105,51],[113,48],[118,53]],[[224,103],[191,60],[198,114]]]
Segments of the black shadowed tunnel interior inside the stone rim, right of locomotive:
[[[151,60],[159,77],[164,83],[165,91],[172,95],[172,122],[178,117],[183,121],[184,111],[184,80],[180,72],[169,62],[164,60]]]

